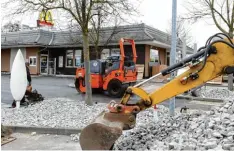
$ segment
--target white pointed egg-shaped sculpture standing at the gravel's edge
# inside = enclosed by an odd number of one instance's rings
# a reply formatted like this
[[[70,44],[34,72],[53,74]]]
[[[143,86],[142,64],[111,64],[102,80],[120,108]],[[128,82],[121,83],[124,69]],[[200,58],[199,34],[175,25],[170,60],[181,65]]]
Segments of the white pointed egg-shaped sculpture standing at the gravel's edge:
[[[24,97],[27,88],[27,71],[25,60],[20,49],[18,50],[11,68],[10,89],[17,108],[20,100]]]

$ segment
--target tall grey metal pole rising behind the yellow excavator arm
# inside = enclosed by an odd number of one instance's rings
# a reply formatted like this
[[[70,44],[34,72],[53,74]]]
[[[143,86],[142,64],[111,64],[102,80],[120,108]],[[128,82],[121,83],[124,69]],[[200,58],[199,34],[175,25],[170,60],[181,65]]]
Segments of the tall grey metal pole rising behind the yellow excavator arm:
[[[172,2],[172,35],[171,35],[171,52],[170,52],[170,65],[176,63],[176,9],[177,9],[177,0]],[[171,79],[175,77],[175,73],[171,73]],[[169,102],[170,115],[174,116],[175,114],[175,97],[170,99]]]

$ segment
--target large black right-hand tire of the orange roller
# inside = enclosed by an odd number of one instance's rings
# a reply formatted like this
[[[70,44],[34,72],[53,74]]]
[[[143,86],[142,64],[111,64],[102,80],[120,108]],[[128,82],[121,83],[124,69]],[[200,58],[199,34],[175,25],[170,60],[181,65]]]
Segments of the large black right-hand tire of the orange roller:
[[[121,97],[123,91],[122,83],[119,80],[111,80],[107,86],[107,92],[111,97]]]

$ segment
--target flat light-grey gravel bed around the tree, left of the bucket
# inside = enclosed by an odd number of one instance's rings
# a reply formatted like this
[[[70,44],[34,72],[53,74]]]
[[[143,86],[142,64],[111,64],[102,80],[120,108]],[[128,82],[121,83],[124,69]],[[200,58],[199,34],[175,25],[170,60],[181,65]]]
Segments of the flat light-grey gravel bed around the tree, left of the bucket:
[[[84,101],[54,98],[20,109],[4,108],[1,121],[14,126],[83,128],[104,109],[103,103],[87,106]]]

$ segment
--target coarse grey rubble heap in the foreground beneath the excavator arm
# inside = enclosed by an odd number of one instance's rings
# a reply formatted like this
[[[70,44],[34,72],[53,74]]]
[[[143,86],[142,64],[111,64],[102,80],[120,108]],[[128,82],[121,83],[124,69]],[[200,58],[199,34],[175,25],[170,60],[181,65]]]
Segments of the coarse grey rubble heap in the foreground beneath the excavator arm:
[[[153,120],[153,109],[138,116],[138,125],[124,132],[115,144],[117,150],[234,150],[234,98],[209,112],[177,113],[168,116],[159,109],[159,120]],[[162,107],[161,107],[162,108]],[[149,120],[151,119],[151,120]]]

